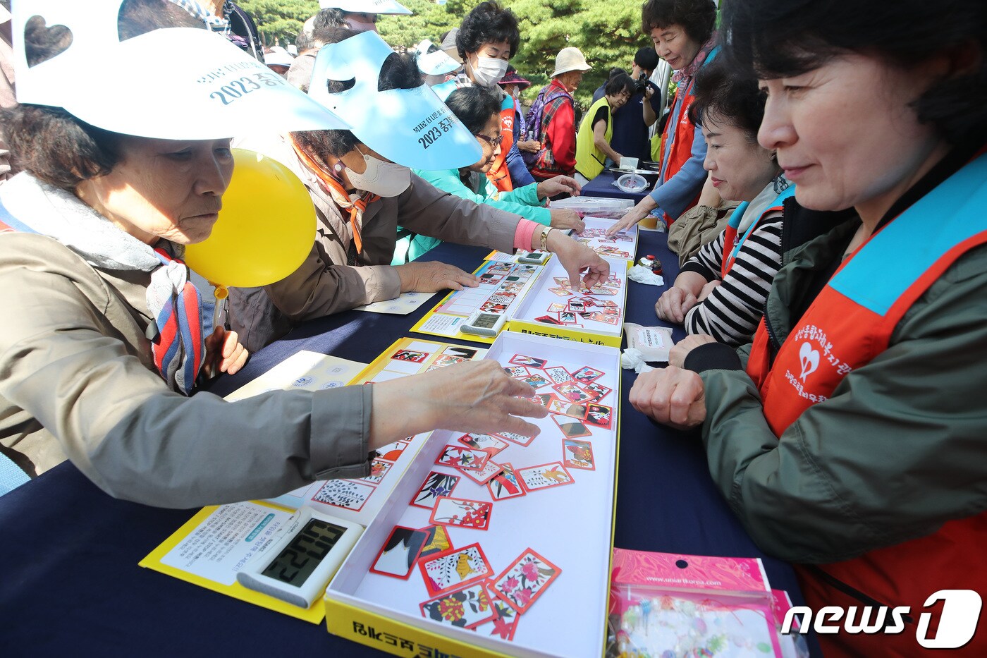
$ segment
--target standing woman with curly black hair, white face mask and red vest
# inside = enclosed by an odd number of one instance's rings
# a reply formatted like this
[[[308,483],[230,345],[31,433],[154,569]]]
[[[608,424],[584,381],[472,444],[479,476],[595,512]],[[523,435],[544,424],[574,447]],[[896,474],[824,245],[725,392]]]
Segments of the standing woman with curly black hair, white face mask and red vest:
[[[514,99],[498,85],[520,42],[521,33],[513,12],[496,2],[481,2],[463,18],[456,33],[456,49],[463,60],[463,72],[432,88],[443,101],[454,89],[470,85],[493,91],[500,99],[503,143],[487,173],[487,178],[500,192],[510,192],[535,182],[514,139]]]

